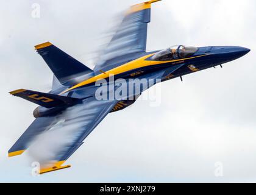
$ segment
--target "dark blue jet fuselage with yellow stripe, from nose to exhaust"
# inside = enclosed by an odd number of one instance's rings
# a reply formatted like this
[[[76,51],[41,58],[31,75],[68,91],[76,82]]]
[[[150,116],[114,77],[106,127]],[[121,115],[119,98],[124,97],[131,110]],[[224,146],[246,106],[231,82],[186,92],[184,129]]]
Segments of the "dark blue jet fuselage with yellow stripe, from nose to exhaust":
[[[96,82],[105,80],[109,83],[110,77],[114,77],[114,80],[126,80],[127,86],[129,84],[129,79],[144,79],[148,82],[150,79],[158,79],[160,82],[164,82],[176,77],[182,77],[186,74],[222,65],[238,59],[250,51],[250,49],[238,46],[208,46],[196,48],[193,50],[193,54],[191,53],[190,55],[182,56],[179,55],[179,48],[180,46],[177,46],[176,50],[167,50],[174,51],[174,55],[169,57],[169,60],[168,57],[161,57],[162,53],[166,55],[166,49],[162,51],[134,54],[133,57],[128,60],[124,60],[120,65],[113,65],[113,68],[102,70],[100,73],[93,76],[90,75],[87,79],[82,80],[82,82],[78,82],[73,87],[66,89],[65,86],[62,85],[62,87],[56,91],[52,91],[52,93],[78,99],[85,99],[95,96],[96,91],[99,88],[99,86],[96,85]],[[175,55],[175,52],[177,52],[177,55]],[[160,55],[160,57],[158,55]],[[154,82],[153,85],[155,83],[157,82]],[[148,85],[147,88],[140,88],[139,91],[134,91],[133,96],[139,96],[149,87],[152,87],[152,85]],[[107,93],[110,93],[110,90],[108,90]],[[112,112],[128,107],[133,104],[136,99],[137,98],[130,99],[130,94],[127,91],[121,100],[117,100],[118,103],[116,104],[116,107],[113,108]],[[40,109],[40,113],[51,113],[51,110],[49,111],[47,108],[40,107]],[[56,110],[56,112],[58,111]],[[55,110],[53,113],[55,113]]]

